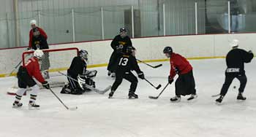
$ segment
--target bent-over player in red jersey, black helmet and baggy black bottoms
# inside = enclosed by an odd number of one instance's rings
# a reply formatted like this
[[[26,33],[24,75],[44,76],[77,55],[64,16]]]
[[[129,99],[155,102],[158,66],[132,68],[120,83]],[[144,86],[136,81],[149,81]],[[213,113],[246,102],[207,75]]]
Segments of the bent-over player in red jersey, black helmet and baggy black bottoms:
[[[163,50],[167,58],[170,58],[170,76],[169,84],[172,84],[174,77],[178,74],[175,82],[176,96],[170,98],[170,101],[181,101],[181,95],[191,95],[187,100],[197,98],[195,90],[195,79],[193,76],[192,66],[189,61],[181,55],[173,52],[172,47],[165,47]]]

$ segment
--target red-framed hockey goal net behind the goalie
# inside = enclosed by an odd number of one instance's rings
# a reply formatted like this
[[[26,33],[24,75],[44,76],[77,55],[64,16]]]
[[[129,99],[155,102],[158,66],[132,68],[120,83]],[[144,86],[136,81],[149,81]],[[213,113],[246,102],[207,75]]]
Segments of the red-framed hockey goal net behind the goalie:
[[[62,87],[67,78],[59,74],[58,71],[66,71],[72,59],[78,55],[78,48],[60,48],[53,50],[42,50],[44,55],[39,60],[40,71],[42,76],[50,84],[50,87]],[[23,52],[22,54],[22,65],[25,66],[29,58],[33,56],[34,51]],[[35,80],[37,82],[37,80]],[[38,83],[39,84],[39,83]],[[41,84],[39,84],[41,86]],[[11,87],[10,91],[7,93],[10,95],[15,95],[18,89],[18,83],[16,82],[14,86]]]

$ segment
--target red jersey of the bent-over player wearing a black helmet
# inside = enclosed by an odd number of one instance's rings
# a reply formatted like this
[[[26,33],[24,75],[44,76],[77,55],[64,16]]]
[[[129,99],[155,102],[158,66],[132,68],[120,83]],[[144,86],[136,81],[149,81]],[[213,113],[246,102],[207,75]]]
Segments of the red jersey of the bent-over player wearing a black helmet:
[[[186,58],[173,52],[170,57],[170,79],[173,79],[176,74],[187,74],[189,71],[192,71],[192,69],[192,66]]]

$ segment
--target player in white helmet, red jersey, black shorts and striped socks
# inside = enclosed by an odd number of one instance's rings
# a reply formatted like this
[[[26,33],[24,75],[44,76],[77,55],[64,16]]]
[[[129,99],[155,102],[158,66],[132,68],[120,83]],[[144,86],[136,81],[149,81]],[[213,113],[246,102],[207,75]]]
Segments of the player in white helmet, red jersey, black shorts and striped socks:
[[[42,83],[42,86],[46,89],[49,89],[50,86],[47,81],[42,77],[42,74],[39,71],[39,59],[42,58],[44,53],[42,50],[35,50],[34,57],[30,58],[25,66],[20,66],[18,70],[18,91],[15,96],[15,102],[12,103],[13,107],[20,107],[23,104],[20,103],[23,93],[26,91],[26,87],[31,87],[29,107],[38,108],[39,105],[35,103],[37,99],[37,93],[39,92],[39,87],[32,77],[37,79],[37,81]]]

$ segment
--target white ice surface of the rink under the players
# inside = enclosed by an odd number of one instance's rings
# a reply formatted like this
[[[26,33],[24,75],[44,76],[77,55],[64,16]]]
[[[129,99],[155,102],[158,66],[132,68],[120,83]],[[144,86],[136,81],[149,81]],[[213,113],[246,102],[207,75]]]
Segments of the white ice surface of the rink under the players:
[[[163,88],[170,64],[159,63],[163,64],[159,69],[151,69],[142,63],[140,68],[148,80],[155,85],[162,84]],[[139,98],[136,100],[127,99],[129,82],[124,80],[112,99],[108,99],[108,93],[63,95],[59,93],[61,88],[53,88],[67,106],[78,106],[76,111],[66,110],[48,90],[41,90],[38,95],[39,110],[28,109],[29,95],[23,96],[22,108],[12,109],[15,97],[6,92],[17,79],[1,78],[0,136],[255,137],[256,60],[245,66],[248,82],[244,95],[247,100],[236,101],[239,83],[235,79],[221,106],[215,104],[216,98],[211,95],[219,93],[224,82],[225,59],[190,60],[190,63],[194,68],[198,94],[193,102],[187,102],[186,96],[180,103],[170,103],[170,97],[175,95],[174,84],[167,87],[157,100],[149,99],[148,95],[158,95],[162,88],[155,90],[139,79],[136,92]],[[105,67],[94,69],[98,71],[94,79],[97,88],[104,89],[113,84]]]

